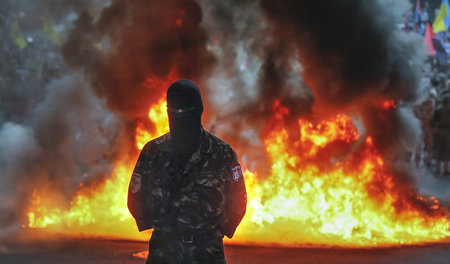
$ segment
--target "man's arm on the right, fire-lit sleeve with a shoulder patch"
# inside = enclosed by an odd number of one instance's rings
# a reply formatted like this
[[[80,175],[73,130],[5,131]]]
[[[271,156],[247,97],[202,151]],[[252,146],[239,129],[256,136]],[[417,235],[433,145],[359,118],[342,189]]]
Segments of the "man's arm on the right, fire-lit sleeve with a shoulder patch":
[[[245,190],[244,176],[241,165],[238,162],[236,153],[229,148],[227,150],[231,157],[226,167],[226,202],[225,217],[222,222],[221,231],[224,235],[232,238],[237,226],[245,215],[247,208],[247,193]]]

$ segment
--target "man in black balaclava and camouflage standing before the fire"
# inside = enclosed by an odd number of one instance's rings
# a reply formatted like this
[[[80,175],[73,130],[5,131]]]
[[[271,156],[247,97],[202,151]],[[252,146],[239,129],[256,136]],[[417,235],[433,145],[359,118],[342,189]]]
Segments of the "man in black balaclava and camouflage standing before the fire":
[[[170,133],[148,142],[133,171],[128,208],[139,231],[153,228],[147,263],[225,263],[245,214],[241,166],[230,145],[203,129],[200,90],[179,80],[167,90]]]

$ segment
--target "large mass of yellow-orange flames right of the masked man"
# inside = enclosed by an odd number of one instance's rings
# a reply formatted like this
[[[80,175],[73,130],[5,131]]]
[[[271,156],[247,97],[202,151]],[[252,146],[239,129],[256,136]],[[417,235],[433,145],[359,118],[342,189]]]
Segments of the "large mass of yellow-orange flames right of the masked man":
[[[411,198],[401,192],[372,138],[350,158],[331,167],[318,165],[333,143],[358,139],[350,118],[338,115],[318,124],[300,120],[299,125],[301,137],[293,144],[285,129],[266,139],[271,172],[264,182],[252,183],[249,212],[237,240],[367,247],[450,235],[448,213],[434,197]]]

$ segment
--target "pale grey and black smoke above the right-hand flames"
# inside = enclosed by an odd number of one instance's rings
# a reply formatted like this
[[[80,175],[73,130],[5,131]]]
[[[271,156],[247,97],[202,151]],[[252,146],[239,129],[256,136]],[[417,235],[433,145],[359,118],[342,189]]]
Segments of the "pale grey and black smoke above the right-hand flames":
[[[294,124],[301,116],[354,116],[392,160],[418,142],[409,105],[419,96],[420,38],[399,32],[395,22],[407,1],[200,3],[205,27],[220,43],[208,87],[221,110],[214,127],[224,137],[258,147],[254,139],[271,130],[272,106],[280,100]],[[397,108],[380,108],[385,100]]]

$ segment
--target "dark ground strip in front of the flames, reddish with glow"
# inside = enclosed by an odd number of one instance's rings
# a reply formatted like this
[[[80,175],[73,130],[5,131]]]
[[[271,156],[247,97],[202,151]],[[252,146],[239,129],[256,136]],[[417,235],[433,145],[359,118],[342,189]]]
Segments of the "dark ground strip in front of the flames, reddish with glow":
[[[0,241],[1,264],[145,263],[147,243],[72,237]],[[226,245],[228,264],[450,263],[450,243],[384,249],[271,248]]]

